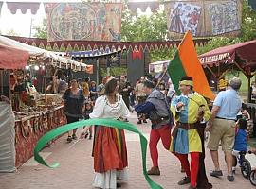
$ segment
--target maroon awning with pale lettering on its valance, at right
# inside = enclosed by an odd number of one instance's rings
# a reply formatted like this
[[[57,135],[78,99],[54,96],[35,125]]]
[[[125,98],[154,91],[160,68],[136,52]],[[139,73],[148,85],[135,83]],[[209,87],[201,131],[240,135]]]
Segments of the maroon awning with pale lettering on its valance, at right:
[[[216,48],[199,56],[204,67],[207,65],[219,66],[220,63],[233,63],[236,58],[248,64],[255,63],[256,40]]]

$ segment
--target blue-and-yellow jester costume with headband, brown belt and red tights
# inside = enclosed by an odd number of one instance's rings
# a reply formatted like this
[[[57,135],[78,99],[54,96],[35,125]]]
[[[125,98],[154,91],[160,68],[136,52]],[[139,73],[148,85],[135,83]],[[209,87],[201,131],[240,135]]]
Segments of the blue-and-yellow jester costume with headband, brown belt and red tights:
[[[192,77],[189,78],[191,80],[183,77],[180,85],[192,86]],[[178,108],[178,103],[182,103],[183,106]],[[172,101],[171,110],[176,121],[171,151],[180,160],[187,175],[185,180],[181,180],[178,184],[191,182],[190,188],[211,188],[204,165],[204,128],[205,122],[210,118],[210,110],[205,98],[196,93],[181,94]],[[198,114],[201,114],[202,119],[198,119]],[[191,168],[188,154],[191,154]]]

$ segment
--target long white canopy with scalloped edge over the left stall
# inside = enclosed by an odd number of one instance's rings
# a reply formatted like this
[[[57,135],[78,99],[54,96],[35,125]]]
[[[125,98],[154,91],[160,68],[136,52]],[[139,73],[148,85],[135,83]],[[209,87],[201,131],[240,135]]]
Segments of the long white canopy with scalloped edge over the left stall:
[[[67,64],[70,64],[71,67],[75,70],[85,70],[87,66],[85,63],[66,59],[64,57],[56,55],[54,52],[50,52],[42,48],[31,46],[26,43],[20,43],[1,35],[0,35],[0,44],[15,47],[20,50],[25,50],[29,53],[31,59],[33,58],[37,58],[41,60],[49,59],[50,63],[55,64],[57,67],[67,68],[68,67]]]

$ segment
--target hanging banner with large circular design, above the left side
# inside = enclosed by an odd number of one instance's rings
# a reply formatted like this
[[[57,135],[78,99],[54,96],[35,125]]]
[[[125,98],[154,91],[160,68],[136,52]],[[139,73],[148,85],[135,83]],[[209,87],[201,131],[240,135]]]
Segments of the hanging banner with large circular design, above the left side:
[[[120,41],[121,3],[47,3],[47,40]]]

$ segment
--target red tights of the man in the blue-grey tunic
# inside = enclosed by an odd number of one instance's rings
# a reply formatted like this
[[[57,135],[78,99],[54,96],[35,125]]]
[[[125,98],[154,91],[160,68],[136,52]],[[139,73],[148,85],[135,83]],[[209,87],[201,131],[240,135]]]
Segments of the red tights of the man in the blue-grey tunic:
[[[169,150],[171,145],[171,127],[166,125],[160,129],[152,129],[150,132],[150,155],[153,166],[158,166],[157,144],[161,139],[164,148]]]

